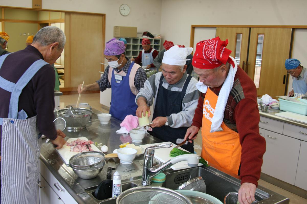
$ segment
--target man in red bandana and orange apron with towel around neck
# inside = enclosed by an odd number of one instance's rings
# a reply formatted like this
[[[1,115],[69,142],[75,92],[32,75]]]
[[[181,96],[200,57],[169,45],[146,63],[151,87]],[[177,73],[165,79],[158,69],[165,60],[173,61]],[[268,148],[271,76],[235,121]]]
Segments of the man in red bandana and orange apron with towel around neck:
[[[239,175],[239,202],[248,204],[255,200],[266,142],[259,135],[255,84],[229,56],[227,44],[216,37],[196,45],[192,65],[201,95],[185,139],[192,142],[201,127],[201,157]]]

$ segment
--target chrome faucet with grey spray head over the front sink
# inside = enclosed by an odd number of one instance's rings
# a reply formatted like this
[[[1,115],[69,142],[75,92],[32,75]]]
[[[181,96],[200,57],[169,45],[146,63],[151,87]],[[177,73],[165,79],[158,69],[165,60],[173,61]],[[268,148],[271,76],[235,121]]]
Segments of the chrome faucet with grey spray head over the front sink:
[[[156,176],[158,173],[164,171],[165,169],[169,168],[170,166],[180,162],[180,161],[188,161],[188,166],[196,167],[198,165],[198,161],[200,156],[197,154],[183,154],[177,157],[171,158],[169,161],[166,161],[165,164],[160,165],[159,167],[153,166],[153,156],[154,150],[165,148],[165,147],[172,147],[172,143],[166,144],[158,144],[151,147],[147,147],[145,149],[144,155],[144,164],[143,164],[143,176],[142,176],[142,184],[144,186],[151,185],[151,179],[153,176]]]

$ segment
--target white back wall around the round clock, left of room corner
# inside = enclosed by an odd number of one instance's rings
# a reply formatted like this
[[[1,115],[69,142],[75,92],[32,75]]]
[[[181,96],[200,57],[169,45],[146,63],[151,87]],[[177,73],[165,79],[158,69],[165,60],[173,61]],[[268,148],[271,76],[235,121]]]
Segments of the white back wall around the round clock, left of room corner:
[[[122,16],[119,6],[127,4],[130,14]],[[159,34],[161,29],[161,0],[42,0],[42,9],[106,14],[106,42],[113,38],[114,26],[138,27],[138,32]],[[31,0],[0,0],[1,6],[32,8]]]

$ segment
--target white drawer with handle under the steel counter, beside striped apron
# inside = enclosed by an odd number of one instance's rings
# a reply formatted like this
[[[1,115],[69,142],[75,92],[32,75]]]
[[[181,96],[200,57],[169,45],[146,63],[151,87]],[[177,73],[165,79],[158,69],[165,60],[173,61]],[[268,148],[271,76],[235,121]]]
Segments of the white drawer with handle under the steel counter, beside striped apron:
[[[63,200],[64,203],[77,204],[76,200],[68,193],[68,191],[60,184],[60,182],[53,176],[49,169],[43,162],[40,162],[41,176],[48,182],[53,191]]]

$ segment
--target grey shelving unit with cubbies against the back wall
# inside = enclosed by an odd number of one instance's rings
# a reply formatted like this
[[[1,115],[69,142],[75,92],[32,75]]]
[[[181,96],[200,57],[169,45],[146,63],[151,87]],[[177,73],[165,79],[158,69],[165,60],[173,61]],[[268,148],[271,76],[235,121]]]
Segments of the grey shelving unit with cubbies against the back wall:
[[[142,48],[142,39],[144,37],[139,38],[128,38],[125,37],[127,41],[127,47],[126,47],[126,57],[129,59],[131,57],[137,57],[138,54],[143,50]],[[158,52],[160,52],[161,47],[161,39],[156,38],[147,38],[150,40],[150,46],[154,49],[156,49]]]

